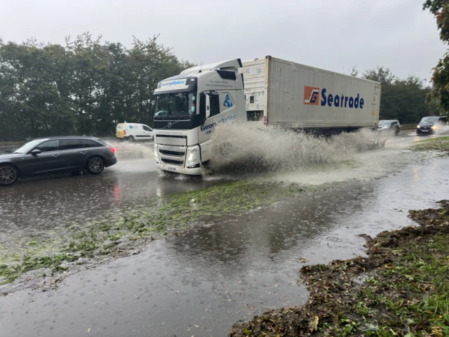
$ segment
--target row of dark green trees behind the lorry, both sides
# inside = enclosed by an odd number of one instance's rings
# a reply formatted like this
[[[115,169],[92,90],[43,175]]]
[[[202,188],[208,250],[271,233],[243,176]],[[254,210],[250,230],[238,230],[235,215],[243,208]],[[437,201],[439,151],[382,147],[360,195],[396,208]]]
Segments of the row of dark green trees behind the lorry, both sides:
[[[65,46],[0,39],[0,140],[112,136],[118,122],[151,125],[157,83],[190,66],[157,37],[134,39],[131,48],[88,33]],[[362,77],[382,83],[381,119],[413,124],[436,114],[424,102],[431,88],[418,77],[398,79],[384,67]]]

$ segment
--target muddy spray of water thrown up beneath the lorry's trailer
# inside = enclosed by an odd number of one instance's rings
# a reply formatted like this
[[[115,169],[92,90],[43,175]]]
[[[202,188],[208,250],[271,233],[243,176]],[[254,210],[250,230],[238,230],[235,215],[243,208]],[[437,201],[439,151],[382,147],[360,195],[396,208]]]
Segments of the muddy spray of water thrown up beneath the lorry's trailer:
[[[210,167],[216,173],[290,171],[347,161],[356,152],[384,147],[389,133],[362,129],[331,138],[250,124],[221,124],[213,136]]]

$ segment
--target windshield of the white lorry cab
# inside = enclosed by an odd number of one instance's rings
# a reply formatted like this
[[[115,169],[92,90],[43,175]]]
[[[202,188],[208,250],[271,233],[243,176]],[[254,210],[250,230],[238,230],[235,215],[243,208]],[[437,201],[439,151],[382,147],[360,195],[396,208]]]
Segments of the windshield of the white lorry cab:
[[[194,93],[164,93],[157,96],[154,116],[189,116],[195,113]]]

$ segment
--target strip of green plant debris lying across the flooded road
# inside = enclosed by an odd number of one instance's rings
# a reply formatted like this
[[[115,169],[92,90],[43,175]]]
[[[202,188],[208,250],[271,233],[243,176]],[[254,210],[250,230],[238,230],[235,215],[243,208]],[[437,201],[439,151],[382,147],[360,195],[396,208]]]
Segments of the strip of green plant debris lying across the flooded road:
[[[74,264],[86,263],[86,259],[128,256],[158,236],[177,234],[229,213],[267,206],[305,190],[292,183],[248,179],[140,201],[123,209],[119,216],[72,225],[68,234],[0,246],[0,284],[13,282],[30,271],[41,272],[29,276],[35,279],[57,275]]]

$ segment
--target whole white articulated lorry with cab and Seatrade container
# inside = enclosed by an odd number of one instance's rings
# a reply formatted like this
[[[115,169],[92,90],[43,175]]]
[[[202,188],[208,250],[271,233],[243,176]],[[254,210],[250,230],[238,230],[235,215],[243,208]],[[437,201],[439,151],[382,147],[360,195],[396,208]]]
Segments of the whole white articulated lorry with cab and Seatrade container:
[[[210,161],[220,124],[332,134],[379,121],[380,83],[271,56],[192,67],[159,82],[154,95],[156,166],[190,175]]]

